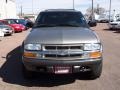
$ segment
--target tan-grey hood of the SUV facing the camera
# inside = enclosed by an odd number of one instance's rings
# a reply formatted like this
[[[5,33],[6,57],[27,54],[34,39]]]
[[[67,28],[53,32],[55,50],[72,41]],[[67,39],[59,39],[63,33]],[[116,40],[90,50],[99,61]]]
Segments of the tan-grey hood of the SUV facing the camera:
[[[82,27],[44,27],[33,28],[25,40],[28,43],[40,44],[79,44],[99,43],[94,31]]]

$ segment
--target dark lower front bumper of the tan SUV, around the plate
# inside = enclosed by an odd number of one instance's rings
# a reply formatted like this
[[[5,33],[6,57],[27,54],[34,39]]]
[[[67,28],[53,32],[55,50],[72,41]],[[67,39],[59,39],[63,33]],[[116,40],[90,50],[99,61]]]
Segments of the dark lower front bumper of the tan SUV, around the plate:
[[[54,73],[54,66],[72,67],[72,73],[81,72],[81,67],[94,68],[102,63],[102,58],[83,60],[44,60],[23,57],[23,64],[29,71]]]

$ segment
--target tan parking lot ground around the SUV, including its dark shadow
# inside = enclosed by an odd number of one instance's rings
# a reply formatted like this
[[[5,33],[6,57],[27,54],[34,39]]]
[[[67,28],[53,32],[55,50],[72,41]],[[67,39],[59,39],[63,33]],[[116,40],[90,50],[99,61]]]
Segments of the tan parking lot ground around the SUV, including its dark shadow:
[[[29,33],[0,37],[0,90],[120,90],[120,30],[106,24],[92,28],[103,43],[103,72],[100,78],[78,75],[38,74],[32,80],[22,75],[20,45]]]

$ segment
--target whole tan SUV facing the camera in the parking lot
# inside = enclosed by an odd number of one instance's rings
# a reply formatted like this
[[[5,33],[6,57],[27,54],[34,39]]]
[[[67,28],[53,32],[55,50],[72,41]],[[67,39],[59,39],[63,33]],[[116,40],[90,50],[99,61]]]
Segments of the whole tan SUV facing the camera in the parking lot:
[[[89,25],[93,26],[92,22]],[[102,45],[89,25],[76,10],[41,12],[22,45],[25,77],[32,77],[34,71],[89,72],[94,78],[100,77]]]

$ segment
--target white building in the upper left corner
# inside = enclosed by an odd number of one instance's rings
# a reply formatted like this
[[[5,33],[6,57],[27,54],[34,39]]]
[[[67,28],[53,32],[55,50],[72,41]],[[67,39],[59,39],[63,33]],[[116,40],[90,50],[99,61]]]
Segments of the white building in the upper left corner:
[[[16,0],[0,0],[0,19],[16,17]]]

